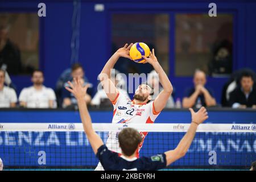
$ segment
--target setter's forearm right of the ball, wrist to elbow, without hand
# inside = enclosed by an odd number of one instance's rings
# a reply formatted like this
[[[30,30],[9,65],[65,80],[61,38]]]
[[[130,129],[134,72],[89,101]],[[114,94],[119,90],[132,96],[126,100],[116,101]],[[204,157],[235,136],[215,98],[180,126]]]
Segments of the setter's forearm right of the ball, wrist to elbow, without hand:
[[[156,62],[152,64],[152,66],[154,67],[156,73],[158,73],[159,75],[159,81],[163,86],[164,92],[168,92],[171,94],[173,90],[171,81],[169,80],[161,65],[158,62]]]

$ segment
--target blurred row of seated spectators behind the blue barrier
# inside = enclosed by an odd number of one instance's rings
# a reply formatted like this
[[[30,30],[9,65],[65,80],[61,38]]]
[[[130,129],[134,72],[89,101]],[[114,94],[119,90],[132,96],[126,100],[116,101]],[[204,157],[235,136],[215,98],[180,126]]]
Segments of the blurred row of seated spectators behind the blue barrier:
[[[129,97],[126,89],[126,81],[115,70],[112,74],[114,84],[123,94]],[[10,84],[10,77],[4,69],[0,69],[0,107],[27,107],[27,108],[77,108],[76,98],[69,93],[65,87],[69,86],[68,81],[74,77],[81,78],[81,84],[89,84],[89,89],[84,98],[86,104],[92,107],[110,107],[109,101],[104,90],[100,86],[93,86],[85,76],[84,69],[79,63],[73,64],[71,68],[65,70],[57,80],[56,88],[48,88],[44,85],[44,74],[40,70],[35,70],[31,76],[32,85],[23,88],[19,96]],[[184,90],[184,97],[181,100],[171,96],[168,99],[166,108],[188,108],[201,106],[206,107],[232,107],[232,108],[254,108],[256,109],[256,76],[251,69],[241,69],[234,72],[228,82],[222,88],[221,103],[217,104],[214,97],[214,90],[205,86],[207,76],[201,70],[196,70],[193,76],[193,87]],[[147,77],[147,82],[154,89],[154,100],[158,93],[163,90],[159,83],[158,74],[152,71]],[[174,85],[175,88],[175,85]],[[93,91],[97,90],[95,94]],[[172,94],[173,95],[173,94]],[[132,100],[133,98],[131,98]]]

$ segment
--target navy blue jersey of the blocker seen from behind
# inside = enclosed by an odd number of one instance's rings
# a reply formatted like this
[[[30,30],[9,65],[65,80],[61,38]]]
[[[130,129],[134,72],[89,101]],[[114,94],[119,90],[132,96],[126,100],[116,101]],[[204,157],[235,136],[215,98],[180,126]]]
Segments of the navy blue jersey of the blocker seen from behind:
[[[105,171],[155,171],[166,167],[166,154],[127,160],[110,151],[105,144],[98,148],[96,156]]]

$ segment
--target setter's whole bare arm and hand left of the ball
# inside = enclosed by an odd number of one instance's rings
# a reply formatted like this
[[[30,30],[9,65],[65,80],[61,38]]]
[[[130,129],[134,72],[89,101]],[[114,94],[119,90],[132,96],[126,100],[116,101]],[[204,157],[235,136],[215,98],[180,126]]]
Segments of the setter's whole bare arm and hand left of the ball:
[[[117,52],[115,52],[108,62],[105,64],[105,67],[102,69],[99,78],[101,81],[101,85],[103,86],[106,95],[108,96],[110,101],[114,101],[117,97],[118,90],[115,88],[115,84],[110,80],[110,72],[111,69],[114,68],[115,63],[117,63],[117,60],[119,57],[127,57],[130,59],[130,48],[133,46],[133,43],[131,43],[129,46],[128,44],[125,44],[124,47],[119,48]]]

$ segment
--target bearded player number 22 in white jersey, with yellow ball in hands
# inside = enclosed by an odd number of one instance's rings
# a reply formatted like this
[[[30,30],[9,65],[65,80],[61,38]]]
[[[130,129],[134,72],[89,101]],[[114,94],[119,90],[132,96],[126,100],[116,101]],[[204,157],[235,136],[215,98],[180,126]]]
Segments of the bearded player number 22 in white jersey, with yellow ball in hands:
[[[133,100],[127,98],[118,89],[115,88],[115,84],[110,79],[111,69],[114,68],[119,57],[126,57],[127,59],[133,60],[136,63],[151,64],[155,69],[156,73],[159,74],[159,81],[163,86],[162,92],[158,94],[158,97],[154,101],[151,101],[154,90],[151,85],[147,83],[141,84],[135,90]],[[121,60],[120,60],[121,61]],[[127,60],[129,61],[129,60]],[[172,84],[164,72],[163,68],[158,62],[155,56],[155,51],[144,43],[131,43],[130,45],[125,44],[124,47],[119,48],[105,64],[99,75],[101,85],[103,86],[106,95],[113,104],[113,119],[112,123],[154,123],[155,119],[160,114],[160,111],[166,106],[167,100],[172,93]],[[110,91],[109,91],[110,90]],[[139,133],[142,137],[142,141],[139,144],[138,150],[136,151],[136,157],[139,158],[139,150],[143,146],[144,138],[147,136],[147,132]],[[117,152],[122,156],[122,150],[118,143],[118,133],[114,131],[109,132],[106,146],[109,150]],[[104,170],[101,163],[95,169],[96,171]]]

